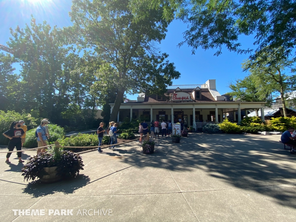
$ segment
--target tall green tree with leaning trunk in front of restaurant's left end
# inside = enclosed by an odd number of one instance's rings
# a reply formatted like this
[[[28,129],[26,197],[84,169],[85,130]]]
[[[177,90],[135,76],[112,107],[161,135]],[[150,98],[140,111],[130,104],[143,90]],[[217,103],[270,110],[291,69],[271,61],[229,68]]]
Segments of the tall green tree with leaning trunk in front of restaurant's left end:
[[[168,55],[156,46],[165,38],[172,19],[164,19],[163,13],[164,7],[152,8],[149,1],[73,1],[70,17],[74,25],[66,29],[73,43],[92,48],[114,69],[105,77],[117,89],[110,120],[117,118],[125,92],[164,92],[164,86],[180,76],[173,64],[165,61]]]

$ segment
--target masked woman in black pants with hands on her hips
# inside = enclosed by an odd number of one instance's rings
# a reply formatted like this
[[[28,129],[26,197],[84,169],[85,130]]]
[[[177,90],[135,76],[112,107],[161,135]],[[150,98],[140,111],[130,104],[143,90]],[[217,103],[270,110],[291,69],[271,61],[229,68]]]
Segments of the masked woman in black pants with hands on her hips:
[[[8,143],[8,151],[13,151],[16,147],[17,150],[22,150],[22,139],[21,136],[24,135],[25,132],[22,128],[20,128],[19,122],[12,122],[9,130],[3,133],[3,136],[9,139]],[[9,157],[11,153],[7,153],[5,163],[11,163],[9,161]],[[19,163],[24,163],[22,160],[22,152],[17,152],[17,157],[19,158]]]

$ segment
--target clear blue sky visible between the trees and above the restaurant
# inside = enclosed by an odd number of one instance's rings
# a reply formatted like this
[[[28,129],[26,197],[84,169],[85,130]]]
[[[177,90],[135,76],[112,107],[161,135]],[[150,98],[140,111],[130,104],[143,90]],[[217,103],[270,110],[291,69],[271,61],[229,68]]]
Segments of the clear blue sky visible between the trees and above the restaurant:
[[[71,25],[68,14],[70,7],[70,0],[0,0],[0,44],[6,45],[9,41],[10,27],[15,29],[19,25],[20,28],[24,28],[26,23],[29,24],[31,14],[37,23],[46,20],[52,27]],[[174,62],[176,69],[181,73],[181,77],[174,80],[173,84],[203,84],[208,79],[216,79],[217,90],[224,94],[229,91],[227,84],[230,81],[247,75],[242,72],[241,63],[248,55],[237,55],[227,49],[223,49],[222,55],[218,57],[214,56],[215,49],[198,49],[196,54],[192,55],[191,48],[187,45],[178,48],[177,44],[183,40],[182,33],[185,30],[185,24],[173,21],[168,27],[165,40],[160,44],[161,51],[170,55],[170,62]],[[254,49],[253,37],[242,36],[239,41],[244,49]],[[136,97],[137,95],[128,96],[129,99]]]

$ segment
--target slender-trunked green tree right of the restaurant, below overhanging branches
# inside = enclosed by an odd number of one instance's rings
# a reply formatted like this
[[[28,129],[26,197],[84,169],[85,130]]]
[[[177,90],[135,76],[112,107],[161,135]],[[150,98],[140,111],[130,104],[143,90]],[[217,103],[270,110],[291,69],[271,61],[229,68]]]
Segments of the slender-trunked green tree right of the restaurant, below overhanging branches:
[[[244,71],[251,71],[260,73],[257,75],[266,84],[270,84],[273,91],[279,92],[283,104],[284,117],[287,117],[286,99],[287,92],[295,88],[295,75],[286,75],[284,72],[290,69],[290,72],[295,72],[293,64],[295,58],[289,58],[284,54],[284,48],[271,49],[264,48],[262,51],[257,52],[254,60],[247,60],[243,63]],[[261,77],[260,77],[261,76]]]

